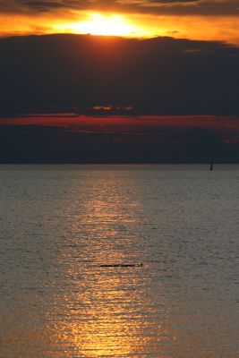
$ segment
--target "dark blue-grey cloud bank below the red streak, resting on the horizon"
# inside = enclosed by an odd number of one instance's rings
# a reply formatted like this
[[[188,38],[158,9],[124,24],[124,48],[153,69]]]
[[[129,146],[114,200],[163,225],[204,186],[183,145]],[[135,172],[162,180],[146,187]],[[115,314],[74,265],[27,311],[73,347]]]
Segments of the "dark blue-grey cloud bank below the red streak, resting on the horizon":
[[[239,144],[212,129],[78,132],[53,126],[0,128],[0,163],[238,163]]]

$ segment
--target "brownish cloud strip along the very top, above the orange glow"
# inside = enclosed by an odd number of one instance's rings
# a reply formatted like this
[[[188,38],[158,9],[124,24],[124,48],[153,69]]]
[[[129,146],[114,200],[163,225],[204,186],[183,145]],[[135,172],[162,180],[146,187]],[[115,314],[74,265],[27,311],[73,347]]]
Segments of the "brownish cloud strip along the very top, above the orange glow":
[[[42,13],[69,11],[115,11],[171,15],[238,16],[238,0],[0,0],[2,13]]]

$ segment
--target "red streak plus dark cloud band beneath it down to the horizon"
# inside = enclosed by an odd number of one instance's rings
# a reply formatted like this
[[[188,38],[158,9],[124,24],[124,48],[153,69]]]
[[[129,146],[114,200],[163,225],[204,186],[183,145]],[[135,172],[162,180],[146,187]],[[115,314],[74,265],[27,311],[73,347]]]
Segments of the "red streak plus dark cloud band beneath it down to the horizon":
[[[4,123],[0,163],[209,163],[212,158],[238,163],[239,158],[239,118],[66,116],[58,124],[56,117]]]

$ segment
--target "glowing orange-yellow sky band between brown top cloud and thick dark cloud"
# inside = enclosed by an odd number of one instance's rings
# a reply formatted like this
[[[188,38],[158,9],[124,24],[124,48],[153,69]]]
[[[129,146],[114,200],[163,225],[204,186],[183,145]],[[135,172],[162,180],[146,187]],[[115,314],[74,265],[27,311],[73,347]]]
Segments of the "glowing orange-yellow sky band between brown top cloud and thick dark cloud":
[[[70,13],[55,11],[37,15],[0,13],[0,38],[54,33],[123,38],[169,36],[192,40],[226,41],[239,46],[239,22],[236,16],[172,16],[89,11]]]

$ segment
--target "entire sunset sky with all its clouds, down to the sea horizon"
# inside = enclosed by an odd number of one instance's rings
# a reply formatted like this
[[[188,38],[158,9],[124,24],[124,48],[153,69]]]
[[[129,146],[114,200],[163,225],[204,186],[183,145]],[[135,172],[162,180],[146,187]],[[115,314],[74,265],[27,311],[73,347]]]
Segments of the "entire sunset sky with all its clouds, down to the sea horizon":
[[[0,162],[239,160],[239,0],[0,0],[0,79]]]

